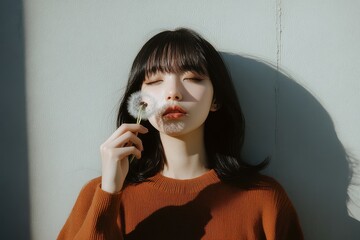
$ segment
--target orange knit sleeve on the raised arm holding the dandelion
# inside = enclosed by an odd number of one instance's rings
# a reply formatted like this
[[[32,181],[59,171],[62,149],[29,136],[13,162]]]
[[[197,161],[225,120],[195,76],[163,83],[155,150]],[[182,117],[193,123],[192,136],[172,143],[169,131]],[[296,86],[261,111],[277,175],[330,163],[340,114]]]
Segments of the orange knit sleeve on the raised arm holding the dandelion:
[[[121,192],[107,193],[100,182],[96,178],[82,188],[58,240],[122,239],[118,222]]]

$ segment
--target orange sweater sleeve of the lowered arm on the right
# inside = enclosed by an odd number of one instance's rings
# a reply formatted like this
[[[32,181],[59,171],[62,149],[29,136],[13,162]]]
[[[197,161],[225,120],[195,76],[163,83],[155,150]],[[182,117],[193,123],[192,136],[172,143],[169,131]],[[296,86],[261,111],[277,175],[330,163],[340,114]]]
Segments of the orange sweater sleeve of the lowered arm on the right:
[[[263,226],[266,239],[304,239],[296,210],[285,190],[277,182],[274,182],[274,189],[264,209]]]

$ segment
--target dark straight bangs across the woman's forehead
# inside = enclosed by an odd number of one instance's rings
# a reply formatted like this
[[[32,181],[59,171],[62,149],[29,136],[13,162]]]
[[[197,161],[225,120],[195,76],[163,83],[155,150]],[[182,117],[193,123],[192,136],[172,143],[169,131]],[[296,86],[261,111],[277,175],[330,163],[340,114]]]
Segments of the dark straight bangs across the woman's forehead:
[[[145,75],[149,76],[156,72],[185,72],[195,71],[207,75],[207,61],[199,44],[189,41],[186,36],[172,36],[163,39],[153,49],[148,49],[149,57],[144,66]]]

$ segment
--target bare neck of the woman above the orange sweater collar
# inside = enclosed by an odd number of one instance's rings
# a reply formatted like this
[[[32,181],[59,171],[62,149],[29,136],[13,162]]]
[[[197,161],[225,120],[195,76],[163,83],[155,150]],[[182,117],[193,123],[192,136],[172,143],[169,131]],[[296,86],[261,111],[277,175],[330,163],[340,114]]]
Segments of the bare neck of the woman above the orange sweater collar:
[[[176,179],[191,179],[208,171],[204,144],[204,127],[182,136],[160,133],[166,162],[162,175]]]

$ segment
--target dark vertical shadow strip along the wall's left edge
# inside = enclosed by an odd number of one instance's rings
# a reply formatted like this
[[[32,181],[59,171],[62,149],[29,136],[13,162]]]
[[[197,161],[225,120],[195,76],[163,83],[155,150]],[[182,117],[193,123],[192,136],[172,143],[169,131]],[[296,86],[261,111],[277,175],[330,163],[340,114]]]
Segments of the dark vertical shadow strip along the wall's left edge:
[[[29,239],[22,1],[1,1],[0,16],[0,236]]]

